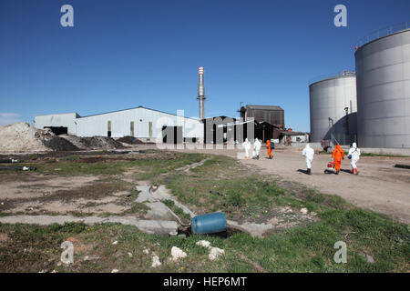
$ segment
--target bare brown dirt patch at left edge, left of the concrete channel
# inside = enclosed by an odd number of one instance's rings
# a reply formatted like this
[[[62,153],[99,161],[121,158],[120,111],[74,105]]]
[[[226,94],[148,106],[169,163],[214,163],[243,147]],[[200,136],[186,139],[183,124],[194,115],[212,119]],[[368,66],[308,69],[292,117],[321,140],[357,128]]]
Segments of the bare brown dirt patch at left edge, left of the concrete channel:
[[[0,176],[0,210],[7,215],[103,215],[122,214],[132,204],[129,191],[119,181],[100,176],[43,176],[36,173]],[[133,214],[138,216],[138,214]]]

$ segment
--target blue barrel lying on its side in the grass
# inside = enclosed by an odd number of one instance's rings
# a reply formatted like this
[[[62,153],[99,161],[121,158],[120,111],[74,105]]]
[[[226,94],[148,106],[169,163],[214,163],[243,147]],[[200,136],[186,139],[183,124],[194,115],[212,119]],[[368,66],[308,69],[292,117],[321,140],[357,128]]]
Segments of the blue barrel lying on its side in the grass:
[[[214,234],[225,231],[228,224],[223,213],[215,212],[193,217],[191,227],[194,234]]]

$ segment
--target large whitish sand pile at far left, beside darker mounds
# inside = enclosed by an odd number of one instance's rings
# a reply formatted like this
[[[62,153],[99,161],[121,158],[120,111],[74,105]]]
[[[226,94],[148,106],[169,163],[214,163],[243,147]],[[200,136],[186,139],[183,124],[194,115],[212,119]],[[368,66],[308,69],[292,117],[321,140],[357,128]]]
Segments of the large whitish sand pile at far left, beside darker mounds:
[[[43,142],[55,136],[49,129],[36,129],[26,122],[0,126],[0,153],[45,152]]]

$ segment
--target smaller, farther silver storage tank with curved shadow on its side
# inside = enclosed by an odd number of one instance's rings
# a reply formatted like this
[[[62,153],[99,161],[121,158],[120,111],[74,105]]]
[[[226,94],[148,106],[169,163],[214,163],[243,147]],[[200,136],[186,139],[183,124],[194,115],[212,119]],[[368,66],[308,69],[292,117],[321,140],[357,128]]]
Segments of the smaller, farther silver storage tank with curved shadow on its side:
[[[356,77],[354,72],[325,78],[309,85],[313,143],[332,139],[342,145],[355,140]],[[345,108],[347,107],[347,112]],[[336,139],[334,141],[333,137]]]

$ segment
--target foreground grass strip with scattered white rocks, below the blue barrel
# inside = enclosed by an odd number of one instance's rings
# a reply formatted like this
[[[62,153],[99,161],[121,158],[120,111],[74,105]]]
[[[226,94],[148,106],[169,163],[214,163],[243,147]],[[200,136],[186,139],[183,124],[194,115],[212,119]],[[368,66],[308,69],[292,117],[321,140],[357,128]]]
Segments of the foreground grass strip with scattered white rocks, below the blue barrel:
[[[265,238],[239,233],[229,238],[219,236],[153,236],[138,232],[133,226],[67,224],[65,226],[0,225],[0,232],[11,240],[0,246],[0,271],[38,272],[256,272],[242,260],[246,256],[269,272],[407,272],[410,255],[408,226],[392,223],[383,216],[360,209],[329,211],[323,221],[293,228]],[[345,234],[349,234],[345,236]],[[57,266],[61,243],[75,237],[83,245],[75,248],[75,264]],[[201,239],[225,250],[216,261],[208,251],[196,246]],[[118,245],[112,242],[118,240]],[[333,261],[337,241],[347,244],[347,264]],[[188,254],[179,262],[168,262],[170,249],[178,246]],[[147,247],[150,254],[142,251]],[[29,251],[24,251],[24,250]],[[129,257],[128,252],[133,256]],[[152,252],[163,263],[152,268]],[[374,256],[375,263],[364,261],[360,253]],[[84,261],[84,256],[101,257]]]

